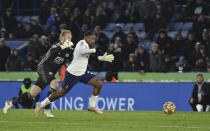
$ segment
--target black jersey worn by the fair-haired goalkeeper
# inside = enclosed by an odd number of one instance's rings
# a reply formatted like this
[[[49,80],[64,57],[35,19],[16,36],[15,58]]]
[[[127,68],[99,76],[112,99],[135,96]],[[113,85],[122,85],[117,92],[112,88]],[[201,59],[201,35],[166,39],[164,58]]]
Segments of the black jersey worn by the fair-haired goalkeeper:
[[[70,47],[62,50],[60,45],[61,43],[57,43],[51,46],[38,64],[38,70],[44,69],[55,74],[64,64],[65,60],[69,60],[72,57],[73,48]]]

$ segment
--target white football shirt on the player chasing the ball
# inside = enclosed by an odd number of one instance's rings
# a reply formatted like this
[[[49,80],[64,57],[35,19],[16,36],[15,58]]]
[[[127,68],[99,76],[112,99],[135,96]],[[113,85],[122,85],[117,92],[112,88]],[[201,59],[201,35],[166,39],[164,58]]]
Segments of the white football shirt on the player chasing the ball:
[[[74,49],[74,58],[68,66],[67,71],[75,76],[85,74],[90,53],[95,53],[95,49],[90,49],[85,40],[80,40]]]

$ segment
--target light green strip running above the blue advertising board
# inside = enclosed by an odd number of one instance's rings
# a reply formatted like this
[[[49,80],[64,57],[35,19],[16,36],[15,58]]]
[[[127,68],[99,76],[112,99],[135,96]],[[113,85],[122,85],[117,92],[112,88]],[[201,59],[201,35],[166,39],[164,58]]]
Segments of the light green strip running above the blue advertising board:
[[[106,72],[94,72],[100,79],[104,80]],[[198,73],[144,73],[119,72],[120,82],[194,82]],[[210,82],[210,73],[202,73],[206,81]],[[36,72],[0,72],[0,81],[23,81],[30,77],[35,81],[38,77]],[[59,75],[56,75],[59,78]]]

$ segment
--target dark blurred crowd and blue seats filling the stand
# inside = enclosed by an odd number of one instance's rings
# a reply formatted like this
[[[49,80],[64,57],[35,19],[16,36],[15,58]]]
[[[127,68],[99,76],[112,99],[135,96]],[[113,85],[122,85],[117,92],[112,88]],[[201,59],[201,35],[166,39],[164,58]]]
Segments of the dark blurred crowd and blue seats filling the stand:
[[[75,44],[86,31],[95,32],[93,71],[210,71],[208,0],[39,0],[38,14],[21,15],[14,9],[16,0],[3,1],[1,71],[35,71],[65,29]],[[8,40],[29,42],[11,53]],[[20,56],[22,50],[26,53]],[[104,52],[113,53],[115,61],[97,61]]]

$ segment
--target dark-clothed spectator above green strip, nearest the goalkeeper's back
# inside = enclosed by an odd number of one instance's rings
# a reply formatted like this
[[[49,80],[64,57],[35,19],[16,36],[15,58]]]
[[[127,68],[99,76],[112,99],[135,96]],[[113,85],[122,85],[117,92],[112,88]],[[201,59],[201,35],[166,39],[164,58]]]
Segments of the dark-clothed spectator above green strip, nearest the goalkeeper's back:
[[[24,71],[36,71],[37,62],[34,60],[31,53],[28,53],[23,64]]]

